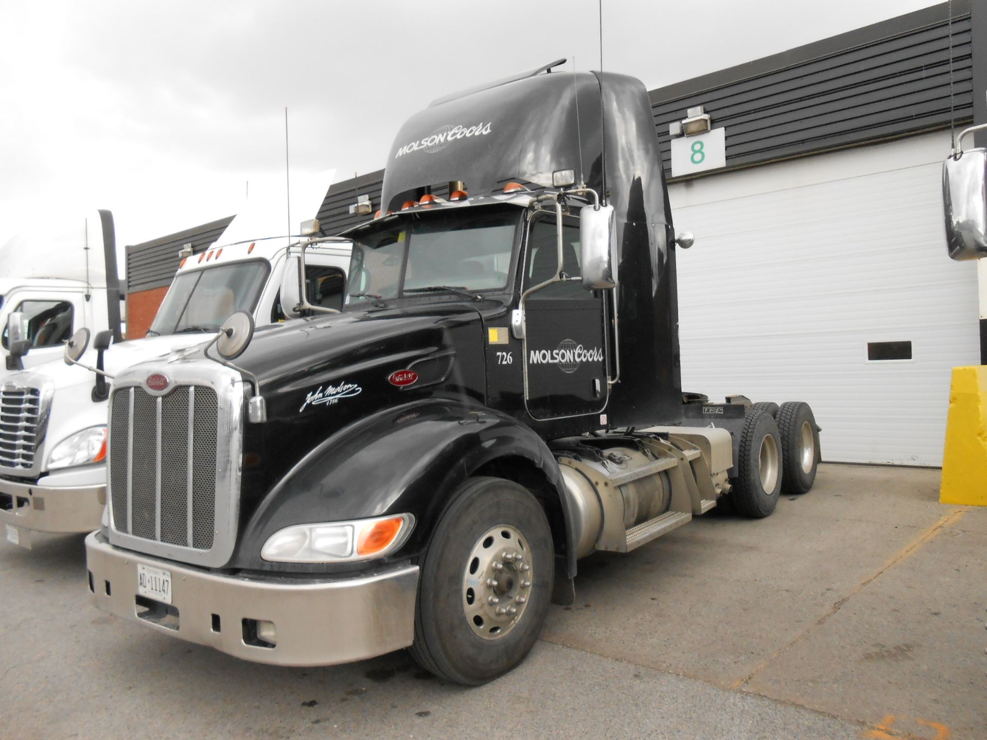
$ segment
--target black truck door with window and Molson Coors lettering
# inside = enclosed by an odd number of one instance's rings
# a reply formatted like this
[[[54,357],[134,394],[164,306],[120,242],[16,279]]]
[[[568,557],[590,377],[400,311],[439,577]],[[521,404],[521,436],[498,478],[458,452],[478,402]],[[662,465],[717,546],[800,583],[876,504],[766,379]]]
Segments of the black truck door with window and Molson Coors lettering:
[[[563,271],[580,275],[578,220],[563,222]],[[550,278],[558,266],[554,214],[530,223],[524,289]],[[531,293],[525,302],[525,403],[537,419],[599,413],[607,405],[607,362],[602,291],[578,281]]]

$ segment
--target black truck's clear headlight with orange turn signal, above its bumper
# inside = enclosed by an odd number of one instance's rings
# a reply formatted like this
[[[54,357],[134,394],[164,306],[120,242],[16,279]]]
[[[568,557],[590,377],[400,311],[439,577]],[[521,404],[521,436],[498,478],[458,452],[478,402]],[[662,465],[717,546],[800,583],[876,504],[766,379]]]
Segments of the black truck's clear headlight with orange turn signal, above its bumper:
[[[271,535],[261,557],[271,562],[343,562],[383,557],[400,548],[415,526],[411,514],[352,522],[296,524]]]

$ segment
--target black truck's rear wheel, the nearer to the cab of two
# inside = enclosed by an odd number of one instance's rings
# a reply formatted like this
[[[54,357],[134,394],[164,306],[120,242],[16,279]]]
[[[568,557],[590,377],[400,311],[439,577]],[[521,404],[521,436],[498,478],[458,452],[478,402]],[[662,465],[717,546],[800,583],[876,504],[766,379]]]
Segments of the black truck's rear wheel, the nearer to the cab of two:
[[[730,498],[744,516],[762,519],[778,504],[782,489],[782,443],[778,424],[767,411],[744,414]]]

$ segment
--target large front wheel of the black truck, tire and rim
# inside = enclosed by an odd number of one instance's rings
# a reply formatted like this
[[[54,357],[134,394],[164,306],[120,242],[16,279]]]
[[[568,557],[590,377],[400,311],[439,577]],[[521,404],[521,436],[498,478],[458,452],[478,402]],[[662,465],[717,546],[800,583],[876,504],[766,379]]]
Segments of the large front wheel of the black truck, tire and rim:
[[[466,686],[511,670],[538,639],[554,568],[552,532],[535,497],[512,481],[467,480],[421,562],[412,655]]]

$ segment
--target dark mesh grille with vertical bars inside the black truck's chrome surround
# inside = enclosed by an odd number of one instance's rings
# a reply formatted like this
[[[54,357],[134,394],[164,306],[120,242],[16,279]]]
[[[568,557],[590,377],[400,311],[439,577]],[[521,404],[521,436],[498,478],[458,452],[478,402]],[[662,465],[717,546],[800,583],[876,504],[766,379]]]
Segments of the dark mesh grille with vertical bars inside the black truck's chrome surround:
[[[142,540],[208,551],[216,524],[218,398],[207,386],[165,396],[114,392],[110,499],[114,529]]]

